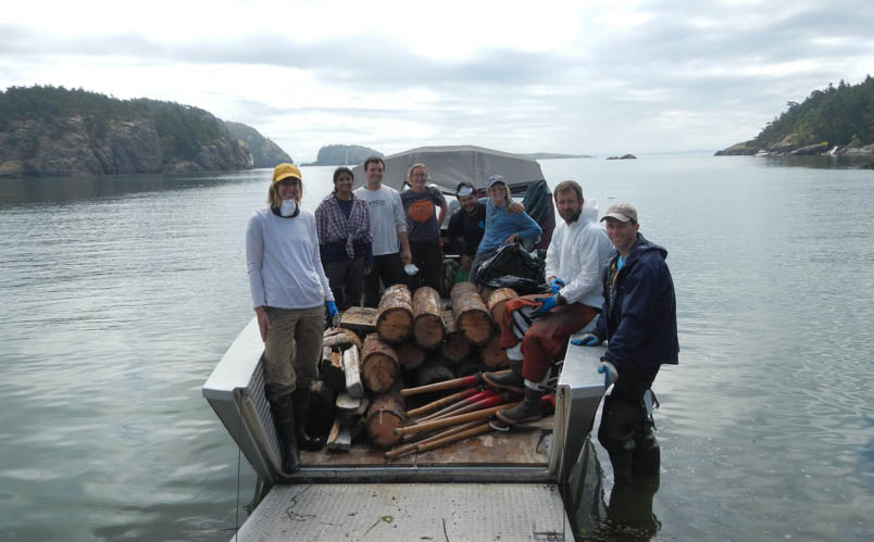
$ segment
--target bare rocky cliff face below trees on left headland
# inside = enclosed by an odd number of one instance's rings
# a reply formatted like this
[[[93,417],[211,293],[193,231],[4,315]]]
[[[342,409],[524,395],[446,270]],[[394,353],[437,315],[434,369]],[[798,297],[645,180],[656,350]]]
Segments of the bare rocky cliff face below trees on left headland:
[[[214,117],[213,117],[214,118]],[[220,122],[218,119],[215,119]],[[244,169],[249,151],[227,130],[188,160],[168,155],[153,119],[111,119],[96,133],[82,116],[13,121],[0,133],[0,176],[113,175]]]

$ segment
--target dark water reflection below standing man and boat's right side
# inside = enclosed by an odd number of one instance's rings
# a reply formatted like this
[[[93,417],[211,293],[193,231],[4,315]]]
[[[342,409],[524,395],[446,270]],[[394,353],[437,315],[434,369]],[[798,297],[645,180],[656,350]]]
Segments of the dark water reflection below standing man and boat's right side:
[[[646,541],[662,527],[652,512],[660,474],[636,475],[616,483],[604,504],[604,471],[591,440],[583,446],[571,474],[567,512],[573,518],[574,538],[585,541]]]

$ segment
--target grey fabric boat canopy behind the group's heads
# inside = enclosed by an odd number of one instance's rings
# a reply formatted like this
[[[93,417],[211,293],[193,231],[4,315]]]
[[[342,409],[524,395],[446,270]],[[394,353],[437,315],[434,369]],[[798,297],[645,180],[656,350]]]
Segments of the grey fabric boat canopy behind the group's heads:
[[[532,159],[474,146],[420,147],[409,151],[385,156],[386,172],[383,182],[401,190],[407,171],[416,163],[425,164],[430,174],[430,182],[441,190],[455,192],[462,180],[477,189],[485,189],[488,178],[503,175],[509,185],[528,184],[544,178],[540,164]],[[355,185],[365,182],[361,165],[352,169]]]

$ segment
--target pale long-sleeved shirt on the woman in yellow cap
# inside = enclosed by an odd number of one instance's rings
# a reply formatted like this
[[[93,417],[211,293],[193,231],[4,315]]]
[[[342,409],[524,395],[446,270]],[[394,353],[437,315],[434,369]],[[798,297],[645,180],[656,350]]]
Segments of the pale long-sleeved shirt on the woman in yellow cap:
[[[246,262],[254,307],[313,308],[334,301],[310,211],[294,218],[255,211],[246,228]]]

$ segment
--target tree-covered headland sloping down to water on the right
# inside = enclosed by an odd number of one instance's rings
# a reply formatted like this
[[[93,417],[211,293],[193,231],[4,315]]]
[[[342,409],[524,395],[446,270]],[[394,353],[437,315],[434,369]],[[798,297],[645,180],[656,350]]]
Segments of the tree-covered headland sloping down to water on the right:
[[[731,155],[874,154],[874,79],[837,87],[831,83],[787,109],[749,141],[715,153]]]

